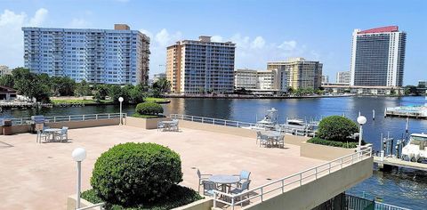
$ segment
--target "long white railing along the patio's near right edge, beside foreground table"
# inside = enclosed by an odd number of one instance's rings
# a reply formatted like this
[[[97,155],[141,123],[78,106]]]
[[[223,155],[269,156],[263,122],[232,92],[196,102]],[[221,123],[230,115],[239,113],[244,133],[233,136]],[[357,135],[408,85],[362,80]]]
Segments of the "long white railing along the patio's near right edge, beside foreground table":
[[[361,149],[355,153],[337,158],[325,164],[315,166],[304,170],[297,174],[286,176],[277,181],[266,183],[262,186],[254,188],[253,190],[246,190],[238,194],[225,193],[219,190],[214,190],[214,207],[217,203],[231,206],[243,206],[246,202],[252,202],[255,198],[259,198],[263,202],[267,195],[273,194],[280,195],[288,190],[300,187],[305,183],[317,180],[319,177],[331,174],[331,172],[342,169],[345,166],[350,166],[353,163],[361,161],[366,158],[372,157],[372,148]]]

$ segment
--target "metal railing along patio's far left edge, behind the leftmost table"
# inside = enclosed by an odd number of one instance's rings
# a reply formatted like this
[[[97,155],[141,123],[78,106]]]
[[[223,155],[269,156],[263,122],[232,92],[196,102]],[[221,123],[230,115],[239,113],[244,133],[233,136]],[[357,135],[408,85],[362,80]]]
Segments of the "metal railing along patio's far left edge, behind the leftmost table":
[[[87,121],[98,119],[119,118],[120,113],[103,113],[103,114],[88,114],[88,115],[67,115],[67,116],[48,116],[44,117],[46,123],[70,122],[70,121]],[[126,113],[122,113],[122,119],[125,120]],[[31,117],[11,118],[12,125],[30,125]]]

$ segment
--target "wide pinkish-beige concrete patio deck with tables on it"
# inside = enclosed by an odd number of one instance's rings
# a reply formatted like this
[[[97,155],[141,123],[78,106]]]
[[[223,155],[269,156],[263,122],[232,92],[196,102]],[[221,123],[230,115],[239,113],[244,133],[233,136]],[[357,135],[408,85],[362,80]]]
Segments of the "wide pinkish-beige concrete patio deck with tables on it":
[[[157,132],[133,126],[102,126],[68,131],[69,143],[36,143],[36,134],[0,136],[0,209],[65,209],[76,192],[76,163],[71,152],[87,150],[83,162],[83,190],[90,189],[93,164],[115,144],[156,142],[181,155],[182,185],[197,190],[196,168],[202,174],[251,171],[251,187],[298,173],[326,161],[300,156],[300,147],[260,148],[254,138],[190,128]],[[286,138],[293,138],[287,136]],[[285,139],[286,142],[286,139]]]

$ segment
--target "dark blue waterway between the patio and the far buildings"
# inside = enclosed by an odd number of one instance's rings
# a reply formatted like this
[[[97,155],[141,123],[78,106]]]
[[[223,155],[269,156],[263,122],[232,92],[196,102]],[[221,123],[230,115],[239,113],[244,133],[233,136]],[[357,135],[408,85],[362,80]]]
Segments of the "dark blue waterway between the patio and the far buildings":
[[[384,109],[402,105],[423,105],[425,97],[340,97],[315,99],[171,99],[165,104],[165,114],[178,113],[203,117],[233,119],[256,122],[265,115],[267,109],[278,109],[278,119],[285,122],[286,117],[310,120],[331,115],[342,115],[353,120],[359,111],[367,117],[364,126],[364,139],[374,144],[378,150],[381,133],[390,132],[391,137],[400,138],[405,133],[405,118],[383,117]],[[124,106],[128,114],[134,106]],[[375,110],[375,120],[373,120]],[[93,113],[119,112],[118,106],[86,106],[52,109],[14,109],[4,110],[0,117],[29,117],[31,115],[57,116]],[[409,133],[427,133],[427,120],[410,119]],[[383,202],[412,209],[427,209],[427,173],[414,170],[396,169],[392,172],[374,171],[374,176],[350,193],[361,196],[383,198]]]

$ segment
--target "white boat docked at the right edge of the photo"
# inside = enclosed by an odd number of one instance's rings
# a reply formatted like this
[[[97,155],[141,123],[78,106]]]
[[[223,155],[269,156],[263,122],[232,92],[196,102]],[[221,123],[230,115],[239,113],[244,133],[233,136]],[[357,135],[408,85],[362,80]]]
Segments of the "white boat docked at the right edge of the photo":
[[[421,163],[427,160],[427,134],[412,133],[409,142],[402,149],[402,159]]]

